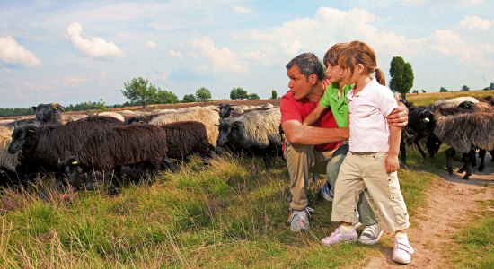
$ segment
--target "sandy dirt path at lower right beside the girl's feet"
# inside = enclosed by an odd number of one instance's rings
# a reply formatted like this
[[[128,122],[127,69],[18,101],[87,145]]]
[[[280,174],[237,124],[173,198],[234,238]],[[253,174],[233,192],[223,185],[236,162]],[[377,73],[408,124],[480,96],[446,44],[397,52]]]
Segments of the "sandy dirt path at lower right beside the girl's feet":
[[[390,234],[376,246],[375,256],[366,268],[447,268],[451,261],[446,260],[448,247],[453,246],[453,236],[466,221],[472,220],[481,207],[475,201],[494,199],[494,164],[490,156],[486,158],[486,169],[477,172],[470,180],[463,175],[447,172],[434,178],[428,190],[428,201],[424,210],[412,216],[409,230],[410,245],[415,248],[410,265],[398,265],[392,260],[393,238]]]

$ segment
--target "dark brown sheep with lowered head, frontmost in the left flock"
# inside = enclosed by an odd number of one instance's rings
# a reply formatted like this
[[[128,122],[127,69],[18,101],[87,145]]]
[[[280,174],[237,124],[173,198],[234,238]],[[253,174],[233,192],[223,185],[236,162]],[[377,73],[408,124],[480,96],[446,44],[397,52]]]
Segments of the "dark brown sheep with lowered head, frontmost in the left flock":
[[[68,178],[91,170],[115,170],[116,180],[110,183],[110,194],[115,195],[119,193],[122,166],[143,165],[143,171],[151,173],[149,183],[153,183],[162,161],[167,160],[167,153],[166,132],[159,126],[100,126],[75,156],[58,163],[58,169],[69,171]],[[71,165],[75,168],[67,168]]]

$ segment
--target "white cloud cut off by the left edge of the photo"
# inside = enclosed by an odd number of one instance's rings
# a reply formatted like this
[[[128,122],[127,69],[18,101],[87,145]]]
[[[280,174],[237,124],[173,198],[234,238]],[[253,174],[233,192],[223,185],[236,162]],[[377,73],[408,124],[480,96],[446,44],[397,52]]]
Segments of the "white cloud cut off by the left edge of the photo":
[[[40,59],[31,51],[23,48],[13,37],[6,35],[0,37],[0,61],[8,64],[37,66],[41,65]]]

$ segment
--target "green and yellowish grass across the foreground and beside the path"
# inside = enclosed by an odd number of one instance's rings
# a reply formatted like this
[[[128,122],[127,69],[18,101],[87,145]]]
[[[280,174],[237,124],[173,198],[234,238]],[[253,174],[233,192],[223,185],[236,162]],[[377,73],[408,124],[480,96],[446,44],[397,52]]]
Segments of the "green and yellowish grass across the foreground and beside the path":
[[[208,169],[200,162],[193,158],[176,173],[160,174],[152,187],[131,185],[118,196],[101,187],[60,194],[50,180],[30,191],[4,189],[0,268],[326,268],[365,265],[379,251],[357,244],[322,247],[319,240],[336,227],[331,203],[316,193],[323,179],[310,188],[312,229],[294,233],[287,225],[283,161],[269,170],[251,159],[216,158]],[[399,178],[415,225],[413,215],[445,160],[409,151],[408,162]],[[492,267],[492,219],[489,213],[465,224],[457,238],[462,247],[452,256],[459,267]]]

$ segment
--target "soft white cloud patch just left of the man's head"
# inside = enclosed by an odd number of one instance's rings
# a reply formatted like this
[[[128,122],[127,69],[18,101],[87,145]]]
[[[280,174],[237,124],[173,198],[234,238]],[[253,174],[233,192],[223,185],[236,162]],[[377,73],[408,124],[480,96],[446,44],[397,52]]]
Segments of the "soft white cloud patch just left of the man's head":
[[[198,54],[208,58],[213,63],[215,72],[243,73],[245,69],[239,64],[238,57],[230,48],[216,48],[215,42],[209,37],[195,39],[192,48],[198,49]]]

